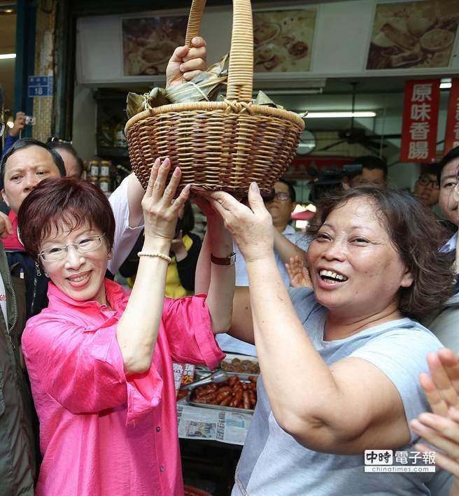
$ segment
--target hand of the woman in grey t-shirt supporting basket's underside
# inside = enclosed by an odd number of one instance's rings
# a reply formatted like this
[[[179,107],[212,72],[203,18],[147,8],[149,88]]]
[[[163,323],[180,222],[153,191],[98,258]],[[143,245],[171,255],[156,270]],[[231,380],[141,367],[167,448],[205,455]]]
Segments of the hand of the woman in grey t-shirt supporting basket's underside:
[[[257,183],[252,183],[248,190],[250,208],[223,191],[204,192],[203,195],[223,218],[246,263],[272,257],[272,218],[264,206]]]

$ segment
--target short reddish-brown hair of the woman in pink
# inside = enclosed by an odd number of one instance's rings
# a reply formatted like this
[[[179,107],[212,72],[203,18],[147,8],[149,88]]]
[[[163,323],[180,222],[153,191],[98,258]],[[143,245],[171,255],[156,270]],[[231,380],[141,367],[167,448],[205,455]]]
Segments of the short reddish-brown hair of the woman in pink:
[[[73,230],[85,222],[104,232],[109,248],[113,246],[115,218],[107,197],[89,181],[76,178],[42,180],[17,213],[21,241],[34,260],[38,260],[41,242],[52,227],[57,229],[64,223]]]

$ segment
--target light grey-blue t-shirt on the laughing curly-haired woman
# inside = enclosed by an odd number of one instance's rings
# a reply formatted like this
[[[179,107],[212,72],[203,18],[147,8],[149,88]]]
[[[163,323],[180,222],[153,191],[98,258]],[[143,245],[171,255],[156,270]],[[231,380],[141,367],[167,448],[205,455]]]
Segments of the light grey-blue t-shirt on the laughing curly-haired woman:
[[[426,355],[442,348],[429,330],[402,318],[346,339],[323,341],[327,310],[316,302],[309,288],[292,289],[290,297],[304,329],[327,364],[351,356],[365,359],[394,383],[407,420],[429,409],[418,377],[428,371]],[[305,376],[304,384],[307,382]],[[257,393],[232,496],[430,495],[425,483],[432,479],[432,473],[365,473],[363,454],[332,455],[305,448],[278,426],[261,377]],[[342,414],[352,416],[353,412]],[[416,451],[411,448],[416,441],[416,435],[411,433],[410,444],[399,451]]]

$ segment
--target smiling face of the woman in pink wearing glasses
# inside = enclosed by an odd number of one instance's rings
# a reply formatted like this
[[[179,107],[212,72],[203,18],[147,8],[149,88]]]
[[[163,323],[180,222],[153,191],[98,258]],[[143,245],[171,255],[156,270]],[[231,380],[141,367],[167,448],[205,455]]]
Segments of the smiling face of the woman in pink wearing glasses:
[[[40,250],[66,246],[99,234],[102,234],[101,230],[91,227],[89,223],[73,230],[62,223],[59,229],[52,227],[50,235],[41,242]],[[51,281],[65,295],[78,302],[106,304],[104,278],[109,250],[106,239],[101,241],[99,248],[86,253],[79,253],[74,246],[69,246],[62,260],[42,260],[43,269]]]

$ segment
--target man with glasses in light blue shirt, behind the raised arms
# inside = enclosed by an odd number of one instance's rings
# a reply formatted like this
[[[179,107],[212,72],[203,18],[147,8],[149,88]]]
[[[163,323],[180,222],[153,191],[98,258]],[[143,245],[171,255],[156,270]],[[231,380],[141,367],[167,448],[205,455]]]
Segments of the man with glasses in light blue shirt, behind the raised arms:
[[[308,239],[303,234],[296,232],[290,224],[292,211],[295,208],[295,188],[285,180],[278,180],[274,184],[274,194],[272,199],[266,201],[266,207],[273,220],[274,231],[274,256],[278,271],[285,286],[290,286],[285,264],[290,262],[290,258],[299,256],[306,257]],[[246,262],[243,260],[237,246],[234,246],[236,253],[236,286],[248,286],[248,276]],[[229,334],[218,334],[216,336],[218,345],[223,351],[230,353],[242,353],[243,355],[257,356],[255,346],[244,343]]]

